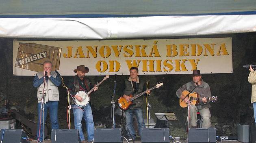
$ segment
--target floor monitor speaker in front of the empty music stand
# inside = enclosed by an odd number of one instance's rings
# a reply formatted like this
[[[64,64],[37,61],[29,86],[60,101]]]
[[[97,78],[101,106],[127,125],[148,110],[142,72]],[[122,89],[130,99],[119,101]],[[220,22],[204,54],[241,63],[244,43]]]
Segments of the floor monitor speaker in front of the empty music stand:
[[[169,128],[143,128],[141,143],[169,143]]]

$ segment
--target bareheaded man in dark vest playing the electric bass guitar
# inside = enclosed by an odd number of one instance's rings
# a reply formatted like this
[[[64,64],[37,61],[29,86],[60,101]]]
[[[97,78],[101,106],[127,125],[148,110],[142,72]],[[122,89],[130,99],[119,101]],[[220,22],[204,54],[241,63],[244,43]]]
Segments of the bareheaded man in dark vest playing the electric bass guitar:
[[[127,80],[124,80],[124,83],[121,84],[119,91],[123,93],[123,97],[129,102],[130,98],[129,95],[137,95],[139,93],[142,93],[143,91],[147,90],[145,86],[145,82],[143,80],[139,79],[139,70],[137,67],[131,67],[130,68],[130,77]],[[148,95],[150,94],[150,90],[148,90]],[[145,95],[147,96],[147,94]],[[135,140],[136,132],[133,127],[133,116],[136,116],[137,122],[138,122],[138,129],[139,129],[139,135],[141,136],[141,131],[143,128],[145,128],[145,123],[143,119],[143,110],[142,110],[142,103],[143,103],[143,96],[133,100],[132,102],[135,103],[135,105],[131,105],[126,111],[125,111],[125,119],[126,119],[126,127],[128,129],[127,132],[129,136],[129,142],[132,142],[132,140]],[[132,139],[133,138],[133,139]]]

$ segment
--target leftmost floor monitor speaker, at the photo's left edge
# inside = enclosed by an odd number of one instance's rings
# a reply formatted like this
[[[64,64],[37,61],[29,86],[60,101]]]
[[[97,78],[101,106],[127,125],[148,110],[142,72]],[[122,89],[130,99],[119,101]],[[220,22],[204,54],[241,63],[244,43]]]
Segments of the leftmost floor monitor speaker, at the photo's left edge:
[[[0,131],[1,143],[29,143],[26,139],[26,134],[23,130],[1,129]]]

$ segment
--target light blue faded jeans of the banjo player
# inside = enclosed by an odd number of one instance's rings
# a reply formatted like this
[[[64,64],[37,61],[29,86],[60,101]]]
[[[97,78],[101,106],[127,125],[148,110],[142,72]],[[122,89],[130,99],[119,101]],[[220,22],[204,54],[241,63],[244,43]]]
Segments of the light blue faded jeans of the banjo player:
[[[82,117],[84,117],[87,128],[88,141],[92,141],[94,136],[94,122],[91,105],[87,104],[84,109],[81,109],[76,104],[72,104],[72,110],[74,114],[74,125],[75,128],[79,130],[80,140],[85,140],[85,136],[82,132]]]

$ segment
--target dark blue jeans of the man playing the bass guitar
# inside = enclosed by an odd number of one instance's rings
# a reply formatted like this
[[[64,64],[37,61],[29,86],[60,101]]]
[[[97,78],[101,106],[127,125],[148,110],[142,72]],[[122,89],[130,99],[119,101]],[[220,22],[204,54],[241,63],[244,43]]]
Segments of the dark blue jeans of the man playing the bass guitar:
[[[125,113],[125,120],[126,120],[126,128],[130,131],[132,138],[135,139],[136,137],[136,132],[133,127],[133,115],[135,115],[137,119],[139,135],[141,136],[142,129],[145,128],[142,109],[133,109],[133,110],[127,109],[126,111],[124,111],[124,113]],[[129,132],[127,132],[127,135],[130,136]]]

